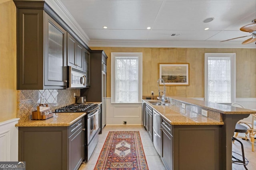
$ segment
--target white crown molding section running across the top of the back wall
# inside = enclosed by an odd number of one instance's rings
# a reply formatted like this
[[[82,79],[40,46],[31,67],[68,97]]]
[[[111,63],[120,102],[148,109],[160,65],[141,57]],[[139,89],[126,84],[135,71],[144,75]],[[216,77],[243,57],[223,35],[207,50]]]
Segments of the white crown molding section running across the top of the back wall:
[[[99,40],[91,39],[89,47],[158,47],[158,48],[243,48],[256,49],[255,43],[241,44],[239,41],[150,41],[150,40]]]

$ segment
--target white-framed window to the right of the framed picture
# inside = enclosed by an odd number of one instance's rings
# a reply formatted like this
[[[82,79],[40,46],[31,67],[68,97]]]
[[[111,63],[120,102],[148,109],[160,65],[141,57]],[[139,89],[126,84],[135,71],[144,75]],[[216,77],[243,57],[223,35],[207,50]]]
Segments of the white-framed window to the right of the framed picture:
[[[236,54],[205,53],[205,100],[233,103],[236,99]]]

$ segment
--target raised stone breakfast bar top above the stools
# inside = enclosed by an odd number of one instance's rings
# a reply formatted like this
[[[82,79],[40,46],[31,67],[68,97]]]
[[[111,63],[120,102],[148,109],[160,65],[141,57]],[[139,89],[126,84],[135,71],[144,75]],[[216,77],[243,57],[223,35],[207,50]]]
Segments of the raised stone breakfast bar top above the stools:
[[[223,114],[255,114],[256,110],[244,109],[240,107],[232,107],[225,104],[218,104],[213,102],[206,102],[202,100],[196,100],[183,97],[170,97],[170,99],[178,100],[180,102],[196,105],[205,109],[216,111]]]

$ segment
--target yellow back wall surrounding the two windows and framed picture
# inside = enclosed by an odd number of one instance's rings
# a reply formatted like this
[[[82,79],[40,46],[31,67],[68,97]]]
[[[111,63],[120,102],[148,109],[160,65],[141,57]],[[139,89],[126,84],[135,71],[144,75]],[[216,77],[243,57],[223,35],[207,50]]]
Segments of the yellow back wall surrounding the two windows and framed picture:
[[[210,48],[121,48],[90,47],[104,50],[107,60],[107,97],[111,96],[111,53],[142,52],[142,96],[158,95],[158,63],[190,63],[190,86],[167,86],[168,96],[204,98],[204,53],[236,53],[236,97],[256,97],[256,49]]]

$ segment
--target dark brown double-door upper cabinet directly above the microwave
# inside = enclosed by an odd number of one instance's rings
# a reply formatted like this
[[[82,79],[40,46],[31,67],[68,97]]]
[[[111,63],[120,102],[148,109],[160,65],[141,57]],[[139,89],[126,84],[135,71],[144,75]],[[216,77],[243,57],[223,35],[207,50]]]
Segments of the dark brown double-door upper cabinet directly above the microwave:
[[[68,66],[84,70],[83,46],[68,33]]]

